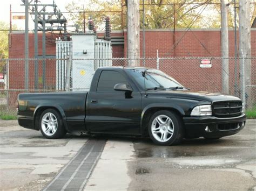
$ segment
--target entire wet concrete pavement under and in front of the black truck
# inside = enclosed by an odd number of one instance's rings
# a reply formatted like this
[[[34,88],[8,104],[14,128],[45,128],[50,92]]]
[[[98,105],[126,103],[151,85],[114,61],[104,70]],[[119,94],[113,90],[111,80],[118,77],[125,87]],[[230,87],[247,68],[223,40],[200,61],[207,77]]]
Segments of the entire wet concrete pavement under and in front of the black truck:
[[[15,121],[0,121],[0,186],[4,190],[255,190],[255,141],[256,120],[248,120],[234,136],[185,139],[177,146],[116,136],[67,135],[51,140]]]

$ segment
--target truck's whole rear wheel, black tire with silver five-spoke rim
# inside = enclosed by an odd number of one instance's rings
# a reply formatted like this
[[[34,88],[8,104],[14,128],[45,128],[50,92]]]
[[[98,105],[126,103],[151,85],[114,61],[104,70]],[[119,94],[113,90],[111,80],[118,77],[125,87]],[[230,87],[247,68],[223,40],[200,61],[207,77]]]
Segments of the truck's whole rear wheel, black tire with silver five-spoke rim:
[[[40,131],[45,138],[58,139],[63,138],[66,135],[62,117],[55,109],[46,109],[41,114]]]

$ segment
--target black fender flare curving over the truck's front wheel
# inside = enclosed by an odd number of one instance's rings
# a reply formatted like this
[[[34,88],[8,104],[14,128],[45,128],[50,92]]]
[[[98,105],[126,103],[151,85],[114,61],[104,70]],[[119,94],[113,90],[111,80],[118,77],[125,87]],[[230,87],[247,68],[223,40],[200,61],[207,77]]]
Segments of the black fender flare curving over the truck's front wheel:
[[[173,103],[151,103],[151,104],[147,105],[142,111],[142,116],[140,117],[140,129],[142,129],[142,121],[143,121],[143,118],[144,118],[144,115],[145,115],[146,111],[149,110],[149,109],[152,109],[152,108],[175,109],[180,113],[181,116],[185,115],[185,112],[184,112],[183,108],[181,108],[177,104],[173,104]]]

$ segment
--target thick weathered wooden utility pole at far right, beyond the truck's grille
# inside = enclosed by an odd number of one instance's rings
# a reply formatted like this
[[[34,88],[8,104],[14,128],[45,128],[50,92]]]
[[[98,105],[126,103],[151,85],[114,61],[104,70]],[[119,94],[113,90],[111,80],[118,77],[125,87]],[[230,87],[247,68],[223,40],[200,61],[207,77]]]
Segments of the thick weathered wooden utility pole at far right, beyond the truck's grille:
[[[241,99],[247,107],[251,107],[246,103],[246,100],[252,99],[250,88],[246,88],[251,85],[250,0],[239,1],[239,65]]]

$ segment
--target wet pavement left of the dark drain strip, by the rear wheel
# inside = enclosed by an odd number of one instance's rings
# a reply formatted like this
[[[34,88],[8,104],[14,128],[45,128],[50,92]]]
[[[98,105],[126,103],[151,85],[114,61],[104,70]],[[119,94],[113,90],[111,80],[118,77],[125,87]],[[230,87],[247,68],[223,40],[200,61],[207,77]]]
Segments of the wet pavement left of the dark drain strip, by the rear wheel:
[[[0,120],[0,189],[41,190],[56,176],[87,137],[45,139],[17,121]]]

